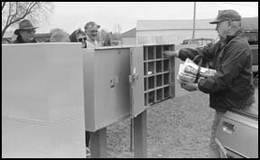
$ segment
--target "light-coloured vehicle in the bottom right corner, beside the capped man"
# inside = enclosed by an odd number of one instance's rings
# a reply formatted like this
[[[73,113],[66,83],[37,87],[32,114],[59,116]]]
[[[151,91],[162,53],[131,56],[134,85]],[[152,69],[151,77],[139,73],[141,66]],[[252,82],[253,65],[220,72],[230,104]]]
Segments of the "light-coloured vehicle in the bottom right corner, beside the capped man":
[[[227,111],[220,119],[216,142],[222,157],[258,158],[258,106]]]

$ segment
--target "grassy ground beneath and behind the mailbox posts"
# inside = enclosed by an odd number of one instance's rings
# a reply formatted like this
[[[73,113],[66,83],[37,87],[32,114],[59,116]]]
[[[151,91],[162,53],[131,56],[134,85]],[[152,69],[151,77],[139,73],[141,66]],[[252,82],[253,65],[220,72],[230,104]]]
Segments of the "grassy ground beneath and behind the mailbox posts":
[[[258,87],[255,89],[258,105]],[[191,92],[147,109],[148,158],[207,158],[214,109],[209,95]],[[134,158],[130,118],[107,127],[107,157]]]

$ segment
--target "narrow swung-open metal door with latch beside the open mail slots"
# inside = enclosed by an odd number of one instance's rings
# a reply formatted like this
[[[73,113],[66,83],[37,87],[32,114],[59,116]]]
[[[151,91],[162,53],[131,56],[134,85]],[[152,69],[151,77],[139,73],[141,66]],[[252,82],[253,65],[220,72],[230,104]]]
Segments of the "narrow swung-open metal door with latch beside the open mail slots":
[[[136,117],[144,111],[144,51],[143,47],[130,49],[130,101],[131,117]]]

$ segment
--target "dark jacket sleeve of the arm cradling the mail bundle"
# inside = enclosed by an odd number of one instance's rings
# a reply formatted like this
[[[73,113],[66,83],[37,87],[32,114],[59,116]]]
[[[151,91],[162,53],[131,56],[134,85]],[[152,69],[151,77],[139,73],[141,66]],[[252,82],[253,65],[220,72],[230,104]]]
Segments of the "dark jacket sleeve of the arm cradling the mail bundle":
[[[239,70],[245,67],[247,52],[243,44],[227,48],[216,75],[200,80],[199,89],[205,93],[215,93],[232,87],[232,82],[238,76]]]

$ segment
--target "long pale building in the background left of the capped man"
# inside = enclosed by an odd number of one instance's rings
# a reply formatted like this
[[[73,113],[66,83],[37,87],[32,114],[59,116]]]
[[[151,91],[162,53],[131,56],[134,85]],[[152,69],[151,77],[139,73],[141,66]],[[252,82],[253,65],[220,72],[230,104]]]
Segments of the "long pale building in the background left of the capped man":
[[[165,30],[165,31],[136,31],[137,44],[147,43],[175,43],[180,44],[185,39],[190,39],[192,30]],[[213,38],[218,34],[215,30],[197,30],[195,38]]]

